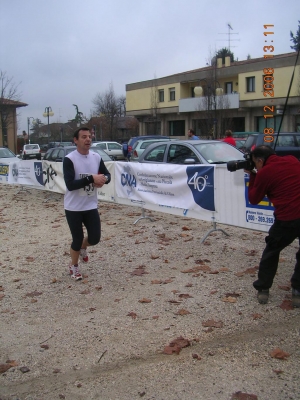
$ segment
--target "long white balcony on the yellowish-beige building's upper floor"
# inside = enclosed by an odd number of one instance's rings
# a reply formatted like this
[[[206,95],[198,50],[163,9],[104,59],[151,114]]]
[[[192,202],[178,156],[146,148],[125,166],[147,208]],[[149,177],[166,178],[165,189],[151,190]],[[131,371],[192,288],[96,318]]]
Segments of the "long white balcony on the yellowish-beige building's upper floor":
[[[214,104],[214,99],[216,104]],[[208,104],[210,100],[210,104]],[[197,112],[210,110],[222,110],[239,108],[239,93],[223,94],[221,96],[211,97],[190,97],[179,100],[179,112]],[[215,107],[216,106],[216,107]]]

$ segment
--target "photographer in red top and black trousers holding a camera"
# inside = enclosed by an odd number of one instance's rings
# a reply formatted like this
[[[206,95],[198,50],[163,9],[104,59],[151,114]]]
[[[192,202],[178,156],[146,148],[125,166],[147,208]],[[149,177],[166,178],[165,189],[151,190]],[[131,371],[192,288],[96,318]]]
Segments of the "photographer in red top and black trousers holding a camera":
[[[248,197],[258,204],[265,195],[275,208],[275,221],[266,237],[258,279],[253,286],[260,304],[266,304],[273,284],[281,250],[300,237],[300,162],[294,156],[279,157],[270,146],[257,146],[251,152],[255,171],[250,173]],[[300,248],[291,278],[292,305],[300,307]]]

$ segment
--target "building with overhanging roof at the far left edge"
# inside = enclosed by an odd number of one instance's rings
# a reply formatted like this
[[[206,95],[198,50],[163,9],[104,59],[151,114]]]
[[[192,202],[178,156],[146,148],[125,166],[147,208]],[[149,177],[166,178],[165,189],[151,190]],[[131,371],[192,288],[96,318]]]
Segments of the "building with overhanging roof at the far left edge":
[[[28,104],[0,97],[0,147],[17,153],[17,108]]]

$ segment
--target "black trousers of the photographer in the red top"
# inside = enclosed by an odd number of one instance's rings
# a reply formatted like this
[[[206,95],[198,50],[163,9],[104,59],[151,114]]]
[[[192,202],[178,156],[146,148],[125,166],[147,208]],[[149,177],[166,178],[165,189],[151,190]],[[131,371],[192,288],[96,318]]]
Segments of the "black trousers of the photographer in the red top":
[[[294,221],[275,220],[269,230],[269,235],[266,237],[267,245],[260,260],[258,280],[253,282],[255,289],[270,289],[277,271],[281,250],[299,237],[300,219]],[[296,253],[296,265],[291,284],[294,289],[300,290],[300,247]]]

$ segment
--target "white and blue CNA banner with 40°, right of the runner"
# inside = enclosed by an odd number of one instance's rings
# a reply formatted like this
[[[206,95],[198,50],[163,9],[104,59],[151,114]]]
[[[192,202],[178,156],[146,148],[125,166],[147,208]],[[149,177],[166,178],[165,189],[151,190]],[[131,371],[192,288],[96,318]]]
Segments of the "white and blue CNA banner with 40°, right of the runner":
[[[213,166],[117,163],[115,183],[118,198],[215,211]]]

